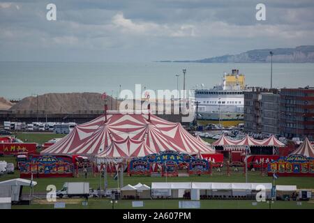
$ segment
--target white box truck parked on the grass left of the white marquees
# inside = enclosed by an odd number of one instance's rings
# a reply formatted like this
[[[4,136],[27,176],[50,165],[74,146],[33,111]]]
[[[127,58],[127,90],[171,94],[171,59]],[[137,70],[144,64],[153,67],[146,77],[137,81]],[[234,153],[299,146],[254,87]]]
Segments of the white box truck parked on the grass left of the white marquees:
[[[57,196],[62,197],[89,197],[89,182],[66,182]]]

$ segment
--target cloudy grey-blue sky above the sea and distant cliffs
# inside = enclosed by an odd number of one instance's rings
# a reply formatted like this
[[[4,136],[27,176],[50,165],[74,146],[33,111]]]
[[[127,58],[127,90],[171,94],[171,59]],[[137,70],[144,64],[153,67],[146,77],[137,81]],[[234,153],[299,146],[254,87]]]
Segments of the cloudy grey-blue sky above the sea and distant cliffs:
[[[202,59],[313,40],[313,0],[0,1],[0,61]]]

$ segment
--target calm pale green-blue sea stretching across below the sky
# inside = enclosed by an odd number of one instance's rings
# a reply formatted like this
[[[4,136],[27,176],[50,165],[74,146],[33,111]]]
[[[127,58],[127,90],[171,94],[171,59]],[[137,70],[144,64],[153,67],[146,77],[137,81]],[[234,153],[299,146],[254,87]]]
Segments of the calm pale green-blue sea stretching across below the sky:
[[[270,86],[270,63],[66,63],[0,62],[0,97],[20,100],[43,93],[98,92],[117,97],[120,90],[209,89],[224,72],[239,69],[248,86]],[[176,75],[179,75],[177,77]],[[273,87],[314,86],[314,63],[273,63]]]

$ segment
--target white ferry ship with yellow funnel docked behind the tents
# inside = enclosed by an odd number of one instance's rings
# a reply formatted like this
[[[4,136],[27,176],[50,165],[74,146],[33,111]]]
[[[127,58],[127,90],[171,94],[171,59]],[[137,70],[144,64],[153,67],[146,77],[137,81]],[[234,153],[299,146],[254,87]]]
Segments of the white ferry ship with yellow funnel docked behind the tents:
[[[245,76],[239,70],[223,75],[223,83],[213,89],[196,89],[197,123],[223,126],[238,125],[244,121]]]

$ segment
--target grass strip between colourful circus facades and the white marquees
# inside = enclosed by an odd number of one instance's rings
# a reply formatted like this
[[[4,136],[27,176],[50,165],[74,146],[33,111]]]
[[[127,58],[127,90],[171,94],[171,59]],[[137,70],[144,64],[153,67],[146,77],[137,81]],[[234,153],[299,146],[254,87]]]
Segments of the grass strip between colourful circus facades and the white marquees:
[[[11,160],[12,157],[2,157],[0,160]],[[46,192],[47,185],[55,185],[57,189],[61,189],[65,182],[89,182],[90,187],[97,189],[100,185],[100,175],[88,174],[87,179],[81,174],[78,178],[36,178],[38,185],[34,187],[35,192]],[[15,174],[0,176],[0,180],[8,180],[10,178],[19,177],[18,171]],[[118,181],[114,180],[112,175],[108,175],[108,187],[118,187]],[[189,177],[151,177],[151,176],[127,176],[124,174],[124,185],[136,185],[137,183],[144,183],[151,186],[151,182],[224,182],[224,183],[243,183],[246,178],[243,173],[231,174],[226,176],[220,175],[202,175],[202,176],[189,176]],[[269,176],[261,176],[260,173],[248,173],[248,182],[251,183],[272,183],[273,178]],[[104,180],[101,179],[101,187],[103,188]],[[314,188],[314,180],[311,177],[280,177],[276,180],[277,185],[297,185],[298,189],[301,188]]]

